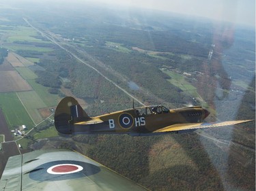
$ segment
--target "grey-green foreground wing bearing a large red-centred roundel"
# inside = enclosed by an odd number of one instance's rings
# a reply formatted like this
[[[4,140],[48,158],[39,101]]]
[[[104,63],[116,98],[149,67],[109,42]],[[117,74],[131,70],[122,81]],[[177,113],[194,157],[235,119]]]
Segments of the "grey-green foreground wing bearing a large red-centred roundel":
[[[0,190],[147,190],[102,164],[69,150],[12,156]]]

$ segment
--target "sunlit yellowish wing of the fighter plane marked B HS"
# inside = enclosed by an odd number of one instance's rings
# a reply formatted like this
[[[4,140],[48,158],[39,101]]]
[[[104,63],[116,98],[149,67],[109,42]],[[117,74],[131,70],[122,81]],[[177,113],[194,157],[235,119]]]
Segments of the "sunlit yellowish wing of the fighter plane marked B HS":
[[[164,128],[160,128],[153,133],[165,133],[171,131],[189,131],[195,130],[198,128],[209,128],[209,127],[218,127],[218,126],[229,126],[233,124],[240,124],[244,122],[251,122],[253,120],[236,120],[236,121],[227,121],[227,122],[213,122],[213,123],[206,123],[206,122],[199,122],[199,123],[186,123],[186,124],[173,124],[170,126],[166,126]]]

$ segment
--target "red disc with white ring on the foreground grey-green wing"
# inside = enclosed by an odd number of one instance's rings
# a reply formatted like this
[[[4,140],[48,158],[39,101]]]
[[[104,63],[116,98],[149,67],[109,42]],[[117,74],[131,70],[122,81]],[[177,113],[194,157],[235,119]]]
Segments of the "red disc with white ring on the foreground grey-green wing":
[[[52,175],[65,175],[82,171],[83,167],[77,164],[56,164],[47,169],[47,173]]]

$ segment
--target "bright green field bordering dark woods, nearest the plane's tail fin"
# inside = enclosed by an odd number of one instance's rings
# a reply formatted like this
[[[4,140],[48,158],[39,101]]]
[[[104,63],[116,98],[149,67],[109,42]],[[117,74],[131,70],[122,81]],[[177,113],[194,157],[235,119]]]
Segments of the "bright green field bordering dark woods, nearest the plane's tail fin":
[[[46,104],[46,107],[57,105],[59,102],[59,96],[56,94],[49,94],[48,88],[38,84],[35,80],[27,80],[29,85],[37,92],[42,101]]]

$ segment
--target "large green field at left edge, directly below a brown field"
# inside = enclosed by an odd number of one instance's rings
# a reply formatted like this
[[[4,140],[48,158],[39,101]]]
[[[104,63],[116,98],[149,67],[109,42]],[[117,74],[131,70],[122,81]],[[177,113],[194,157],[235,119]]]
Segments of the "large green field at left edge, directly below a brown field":
[[[33,121],[29,117],[26,109],[17,97],[15,92],[0,94],[0,107],[3,109],[5,119],[12,128],[16,125],[25,124],[28,128],[34,126]]]

